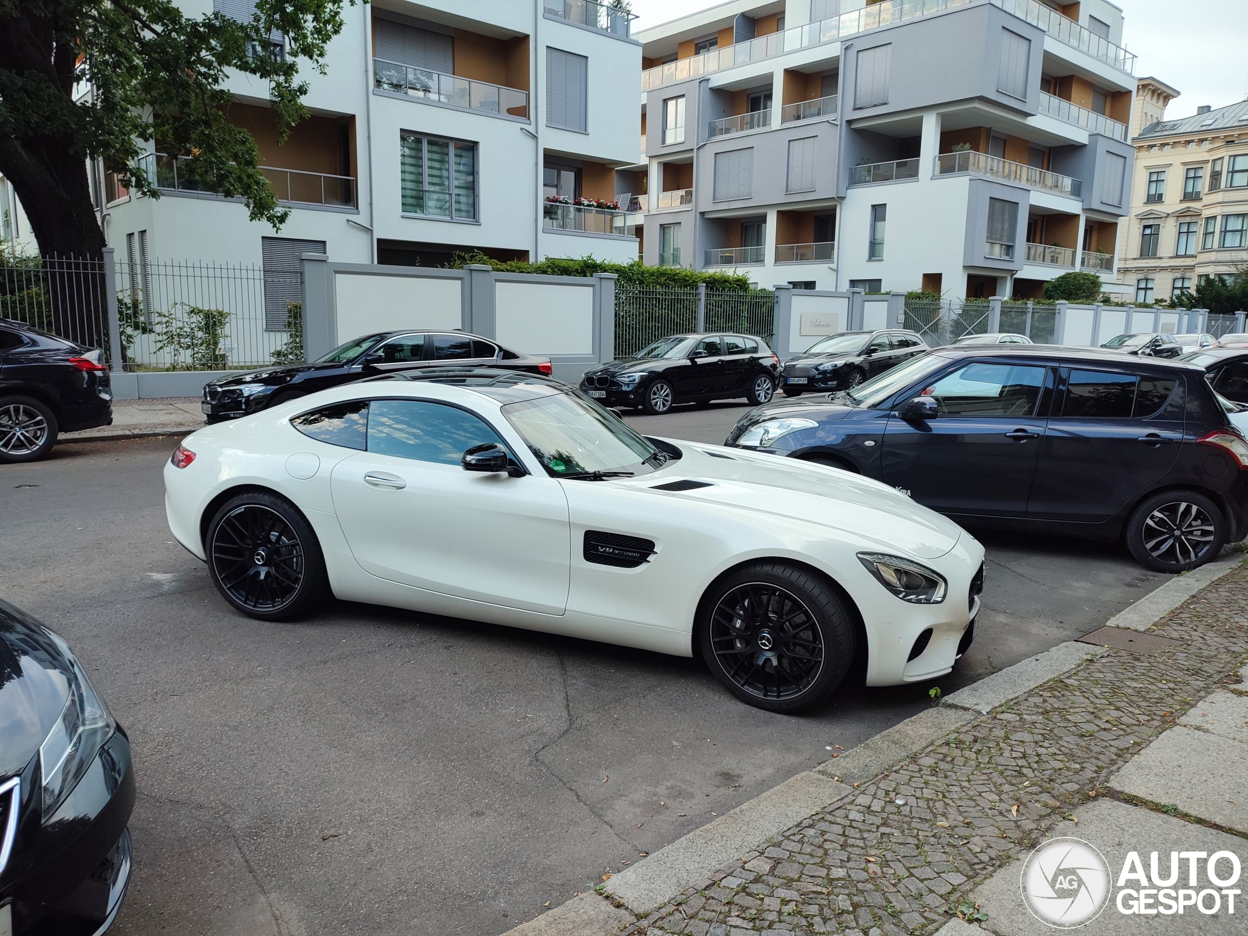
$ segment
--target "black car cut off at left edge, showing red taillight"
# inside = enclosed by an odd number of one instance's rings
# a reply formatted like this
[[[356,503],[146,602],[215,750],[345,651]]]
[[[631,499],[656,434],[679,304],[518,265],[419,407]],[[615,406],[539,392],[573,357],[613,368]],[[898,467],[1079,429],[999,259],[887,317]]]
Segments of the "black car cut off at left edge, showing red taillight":
[[[0,318],[0,464],[37,462],[60,433],[111,423],[112,384],[99,348]]]

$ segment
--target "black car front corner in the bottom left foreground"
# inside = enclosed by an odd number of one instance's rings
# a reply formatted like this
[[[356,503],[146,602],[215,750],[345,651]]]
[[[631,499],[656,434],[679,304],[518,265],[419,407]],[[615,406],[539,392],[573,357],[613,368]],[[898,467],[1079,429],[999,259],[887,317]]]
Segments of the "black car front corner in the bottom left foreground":
[[[130,740],[74,653],[0,602],[0,934],[107,930],[134,805]]]

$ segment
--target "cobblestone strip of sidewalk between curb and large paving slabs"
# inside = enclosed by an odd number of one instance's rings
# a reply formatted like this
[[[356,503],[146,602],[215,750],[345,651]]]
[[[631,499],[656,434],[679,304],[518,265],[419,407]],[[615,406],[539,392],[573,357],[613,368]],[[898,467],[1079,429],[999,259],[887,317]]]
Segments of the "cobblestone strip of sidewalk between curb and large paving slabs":
[[[931,934],[1248,655],[1248,567],[1148,628],[1181,641],[1109,650],[998,706],[857,795],[741,856],[622,936]],[[1091,649],[1091,648],[1090,648]],[[820,770],[836,778],[836,761]],[[1076,816],[1077,820],[1077,816]]]

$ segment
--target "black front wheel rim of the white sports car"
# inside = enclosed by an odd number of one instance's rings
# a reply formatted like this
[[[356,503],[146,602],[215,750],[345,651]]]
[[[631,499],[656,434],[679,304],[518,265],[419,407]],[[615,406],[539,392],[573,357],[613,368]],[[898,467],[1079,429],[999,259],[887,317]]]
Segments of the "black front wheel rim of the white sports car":
[[[795,699],[824,669],[824,635],[802,602],[751,582],[719,599],[710,645],[728,678],[759,699]]]

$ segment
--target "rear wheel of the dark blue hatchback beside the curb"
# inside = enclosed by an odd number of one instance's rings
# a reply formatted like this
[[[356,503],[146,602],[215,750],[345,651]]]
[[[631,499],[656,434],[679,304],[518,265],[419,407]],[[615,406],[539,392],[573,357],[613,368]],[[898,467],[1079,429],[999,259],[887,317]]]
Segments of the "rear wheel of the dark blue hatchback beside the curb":
[[[1123,537],[1146,569],[1187,572],[1218,558],[1227,542],[1227,519],[1199,492],[1162,490],[1136,504]]]

